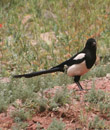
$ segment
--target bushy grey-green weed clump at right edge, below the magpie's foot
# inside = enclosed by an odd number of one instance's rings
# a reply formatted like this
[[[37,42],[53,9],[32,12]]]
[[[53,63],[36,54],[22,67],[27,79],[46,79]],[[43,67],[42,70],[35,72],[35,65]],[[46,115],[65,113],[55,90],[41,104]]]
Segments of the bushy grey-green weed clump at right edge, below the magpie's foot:
[[[110,116],[110,94],[102,90],[95,90],[93,87],[88,94],[85,95],[85,101],[89,102],[89,107],[86,107],[86,110],[97,109],[101,114],[107,114],[107,117]]]

